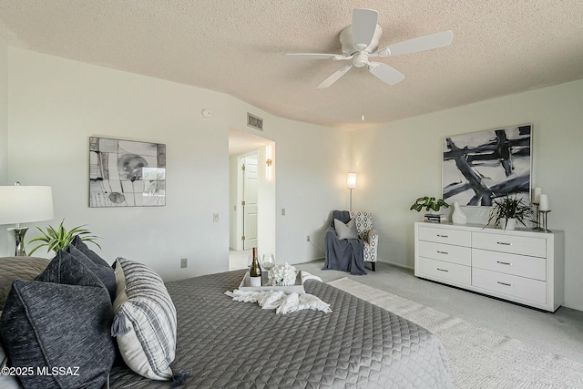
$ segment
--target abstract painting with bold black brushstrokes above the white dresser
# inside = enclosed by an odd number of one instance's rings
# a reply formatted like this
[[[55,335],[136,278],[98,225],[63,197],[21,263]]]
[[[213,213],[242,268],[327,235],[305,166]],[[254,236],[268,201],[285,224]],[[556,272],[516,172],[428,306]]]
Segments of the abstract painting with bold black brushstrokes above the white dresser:
[[[443,147],[448,203],[490,206],[506,195],[530,202],[532,125],[446,137]]]

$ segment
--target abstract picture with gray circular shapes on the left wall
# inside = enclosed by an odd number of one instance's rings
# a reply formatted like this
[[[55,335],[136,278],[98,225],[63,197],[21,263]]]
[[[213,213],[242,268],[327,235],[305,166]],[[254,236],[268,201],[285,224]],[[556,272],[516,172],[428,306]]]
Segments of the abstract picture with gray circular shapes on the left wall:
[[[166,145],[89,138],[89,207],[166,205]]]

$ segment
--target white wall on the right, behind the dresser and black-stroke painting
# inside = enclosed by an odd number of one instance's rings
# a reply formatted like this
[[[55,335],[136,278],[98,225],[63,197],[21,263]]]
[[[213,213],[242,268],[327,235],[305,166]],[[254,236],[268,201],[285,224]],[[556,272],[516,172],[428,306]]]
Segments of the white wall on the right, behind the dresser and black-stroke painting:
[[[444,97],[446,98],[446,97]],[[442,139],[518,124],[533,124],[532,187],[550,200],[550,230],[565,230],[565,305],[583,310],[583,80],[409,118],[351,133],[358,172],[354,209],[370,210],[380,233],[380,261],[413,267],[417,197],[441,197]],[[465,207],[470,222],[483,213]]]

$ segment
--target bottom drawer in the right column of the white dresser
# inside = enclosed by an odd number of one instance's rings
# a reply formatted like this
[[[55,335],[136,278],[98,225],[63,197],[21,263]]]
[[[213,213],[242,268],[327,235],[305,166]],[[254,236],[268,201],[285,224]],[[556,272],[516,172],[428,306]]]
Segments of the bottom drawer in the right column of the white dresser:
[[[547,282],[544,281],[473,268],[472,286],[531,302],[547,303]]]

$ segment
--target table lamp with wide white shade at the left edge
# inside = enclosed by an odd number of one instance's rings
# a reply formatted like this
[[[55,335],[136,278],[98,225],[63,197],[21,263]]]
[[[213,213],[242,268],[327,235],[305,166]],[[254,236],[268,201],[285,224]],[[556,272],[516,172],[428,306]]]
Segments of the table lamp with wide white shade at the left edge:
[[[0,224],[15,224],[15,256],[24,257],[25,234],[28,227],[20,223],[52,220],[53,190],[51,187],[29,187],[16,182],[14,186],[0,187]]]

